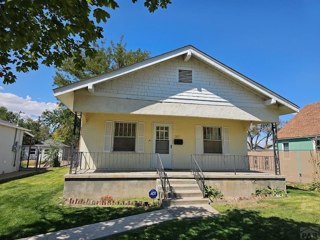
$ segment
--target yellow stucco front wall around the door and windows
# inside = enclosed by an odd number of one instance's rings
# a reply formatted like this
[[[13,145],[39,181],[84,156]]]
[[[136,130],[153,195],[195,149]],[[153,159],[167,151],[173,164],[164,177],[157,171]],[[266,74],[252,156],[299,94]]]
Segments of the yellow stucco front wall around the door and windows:
[[[230,154],[246,155],[246,127],[244,121],[200,117],[170,117],[132,114],[85,113],[82,124],[80,151],[103,152],[105,121],[145,122],[144,152],[152,152],[152,122],[172,123],[172,138],[183,139],[182,145],[172,144],[172,168],[189,168],[190,154],[195,153],[195,125],[228,126]]]

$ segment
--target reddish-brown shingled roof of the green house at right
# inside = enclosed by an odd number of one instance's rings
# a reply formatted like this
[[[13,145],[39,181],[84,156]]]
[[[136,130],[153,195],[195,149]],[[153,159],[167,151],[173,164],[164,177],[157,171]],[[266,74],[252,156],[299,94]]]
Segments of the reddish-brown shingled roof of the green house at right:
[[[320,101],[305,105],[279,131],[278,138],[320,135]]]

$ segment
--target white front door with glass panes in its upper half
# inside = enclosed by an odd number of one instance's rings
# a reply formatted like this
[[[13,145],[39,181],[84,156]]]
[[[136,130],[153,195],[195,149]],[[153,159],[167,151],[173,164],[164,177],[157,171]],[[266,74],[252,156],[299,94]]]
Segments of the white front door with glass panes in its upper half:
[[[152,152],[159,153],[164,168],[172,168],[172,123],[153,123]]]

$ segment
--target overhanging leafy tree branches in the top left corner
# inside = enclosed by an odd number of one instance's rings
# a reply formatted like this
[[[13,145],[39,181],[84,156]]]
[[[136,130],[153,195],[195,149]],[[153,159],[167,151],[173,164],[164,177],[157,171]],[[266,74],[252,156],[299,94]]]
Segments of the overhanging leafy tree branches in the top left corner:
[[[136,2],[137,0],[132,0]],[[144,0],[150,12],[166,8],[170,0]],[[59,67],[66,58],[75,68],[92,56],[92,43],[102,38],[102,27],[119,7],[114,0],[0,0],[0,78],[13,83],[20,72],[36,70],[39,63]],[[93,15],[93,17],[91,17]]]

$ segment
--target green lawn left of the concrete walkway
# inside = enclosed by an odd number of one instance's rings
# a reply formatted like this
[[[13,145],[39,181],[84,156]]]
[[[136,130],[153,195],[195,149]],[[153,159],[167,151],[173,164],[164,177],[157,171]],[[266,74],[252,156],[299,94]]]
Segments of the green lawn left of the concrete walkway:
[[[111,220],[159,209],[158,207],[64,206],[63,174],[68,168],[52,168],[0,183],[0,239],[16,239]]]

